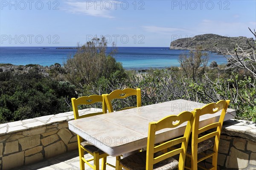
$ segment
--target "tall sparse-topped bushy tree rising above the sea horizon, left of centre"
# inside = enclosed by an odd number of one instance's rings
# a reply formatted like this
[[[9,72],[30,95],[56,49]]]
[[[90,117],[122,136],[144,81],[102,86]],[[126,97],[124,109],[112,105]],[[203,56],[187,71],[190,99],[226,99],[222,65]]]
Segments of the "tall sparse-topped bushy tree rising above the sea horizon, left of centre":
[[[116,72],[119,73],[119,77],[124,76],[122,65],[111,56],[115,48],[109,55],[106,55],[106,49],[105,37],[93,38],[92,41],[82,45],[74,57],[68,58],[64,65],[67,69],[67,79],[76,87],[83,88],[83,85],[96,83],[100,77],[108,78]]]

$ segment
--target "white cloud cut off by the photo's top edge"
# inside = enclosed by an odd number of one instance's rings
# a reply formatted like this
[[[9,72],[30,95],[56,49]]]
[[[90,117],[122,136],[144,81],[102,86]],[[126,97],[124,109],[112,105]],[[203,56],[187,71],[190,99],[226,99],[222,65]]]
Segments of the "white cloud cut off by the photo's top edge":
[[[64,1],[67,4],[64,10],[73,14],[86,14],[94,17],[114,18],[102,1]]]

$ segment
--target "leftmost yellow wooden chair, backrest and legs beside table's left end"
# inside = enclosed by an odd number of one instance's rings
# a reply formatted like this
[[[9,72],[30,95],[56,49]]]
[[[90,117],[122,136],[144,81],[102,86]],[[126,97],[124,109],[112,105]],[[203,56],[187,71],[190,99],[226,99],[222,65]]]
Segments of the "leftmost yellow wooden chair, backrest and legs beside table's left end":
[[[106,104],[104,102],[103,96],[100,96],[100,95],[82,96],[82,97],[79,97],[78,99],[72,98],[71,101],[72,101],[75,119],[107,113],[107,108],[106,108]],[[79,116],[78,105],[91,105],[96,102],[102,103],[102,112],[88,113],[88,114]],[[77,135],[77,140],[78,140],[78,148],[79,148],[80,169],[84,170],[84,163],[86,163],[91,168],[93,168],[93,170],[99,170],[99,159],[102,159],[102,170],[105,170],[106,164],[108,164],[106,163],[108,154],[103,152],[102,150],[100,150],[90,142],[85,141],[79,135]],[[88,160],[84,159],[84,151],[86,151],[87,153],[90,153],[93,156],[93,158]],[[89,163],[89,161],[93,161],[93,166]],[[108,165],[111,167],[114,167],[111,164],[108,164]]]

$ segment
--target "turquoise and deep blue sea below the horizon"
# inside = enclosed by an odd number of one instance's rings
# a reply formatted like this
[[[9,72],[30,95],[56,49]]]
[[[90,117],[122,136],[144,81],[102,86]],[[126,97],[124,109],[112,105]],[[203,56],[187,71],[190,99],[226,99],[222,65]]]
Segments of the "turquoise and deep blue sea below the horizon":
[[[111,48],[108,48],[107,52]],[[13,65],[39,64],[50,66],[58,62],[63,65],[67,57],[73,57],[76,49],[57,49],[57,47],[0,47],[0,63]],[[168,47],[117,47],[116,61],[122,62],[126,69],[148,69],[180,66],[177,59],[188,50],[169,50]],[[214,60],[226,64],[227,59],[219,54],[208,52],[208,65]]]

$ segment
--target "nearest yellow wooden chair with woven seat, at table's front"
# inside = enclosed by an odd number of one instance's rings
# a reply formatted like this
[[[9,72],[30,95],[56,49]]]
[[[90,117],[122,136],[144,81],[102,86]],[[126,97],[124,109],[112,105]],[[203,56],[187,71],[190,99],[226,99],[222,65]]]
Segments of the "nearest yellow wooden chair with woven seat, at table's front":
[[[183,137],[155,145],[155,134],[157,131],[165,128],[175,128],[184,122],[187,122],[187,125]],[[183,170],[193,122],[194,113],[188,111],[182,112],[177,116],[167,116],[158,122],[150,122],[148,125],[147,150],[119,160],[119,166],[116,164],[116,169],[123,167],[127,170],[173,170],[178,167],[179,170]],[[162,152],[180,143],[180,148]],[[172,158],[175,155],[179,155],[179,161]]]

